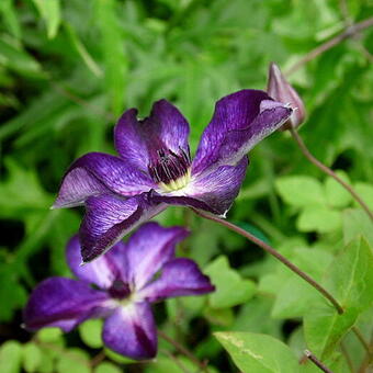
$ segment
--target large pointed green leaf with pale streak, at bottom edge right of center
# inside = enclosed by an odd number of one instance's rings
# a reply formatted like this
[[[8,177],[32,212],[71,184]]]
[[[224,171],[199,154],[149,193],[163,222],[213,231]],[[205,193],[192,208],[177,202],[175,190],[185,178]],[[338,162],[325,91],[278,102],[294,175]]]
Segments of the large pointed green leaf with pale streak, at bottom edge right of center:
[[[296,373],[298,363],[290,348],[280,340],[253,332],[215,332],[244,373]]]

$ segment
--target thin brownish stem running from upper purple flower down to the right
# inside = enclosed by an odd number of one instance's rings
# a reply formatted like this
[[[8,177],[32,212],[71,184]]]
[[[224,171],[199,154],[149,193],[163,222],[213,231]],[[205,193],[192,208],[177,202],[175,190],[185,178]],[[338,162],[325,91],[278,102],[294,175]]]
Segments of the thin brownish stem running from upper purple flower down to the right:
[[[338,303],[338,301],[326,290],[324,289],[318,282],[316,282],[313,278],[310,278],[307,273],[303,272],[301,269],[298,269],[296,265],[294,265],[291,261],[289,261],[285,257],[283,257],[279,251],[276,251],[274,248],[272,248],[270,245],[265,244],[264,241],[262,241],[261,239],[259,239],[258,237],[251,235],[250,233],[246,231],[245,229],[227,222],[224,221],[217,216],[211,215],[208,213],[202,212],[202,211],[197,211],[194,210],[195,214],[216,222],[225,227],[227,227],[228,229],[244,236],[245,238],[247,238],[248,240],[250,240],[251,242],[258,245],[259,247],[261,247],[264,251],[267,251],[268,253],[270,253],[272,257],[276,258],[278,260],[280,260],[283,264],[285,264],[290,270],[292,270],[294,273],[296,273],[298,276],[301,276],[303,280],[305,280],[306,282],[308,282],[308,284],[313,287],[315,287],[319,293],[321,293],[337,309],[338,314],[343,314],[343,308],[342,306]]]

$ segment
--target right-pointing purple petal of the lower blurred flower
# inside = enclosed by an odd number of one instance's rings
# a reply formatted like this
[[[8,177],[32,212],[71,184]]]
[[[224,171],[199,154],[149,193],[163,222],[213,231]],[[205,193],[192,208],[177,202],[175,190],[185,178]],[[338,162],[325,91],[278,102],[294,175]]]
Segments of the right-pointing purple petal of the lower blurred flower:
[[[139,292],[138,296],[157,302],[172,296],[201,295],[215,290],[193,260],[177,258],[163,265],[161,276]]]

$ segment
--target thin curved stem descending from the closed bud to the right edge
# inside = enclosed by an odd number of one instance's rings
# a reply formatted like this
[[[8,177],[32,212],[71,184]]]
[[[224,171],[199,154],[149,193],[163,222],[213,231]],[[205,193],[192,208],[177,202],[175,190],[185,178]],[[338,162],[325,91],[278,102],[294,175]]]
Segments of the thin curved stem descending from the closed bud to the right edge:
[[[323,172],[329,174],[331,178],[334,178],[337,182],[339,182],[352,196],[353,199],[361,205],[362,208],[364,208],[364,211],[366,212],[366,214],[369,215],[369,217],[371,218],[371,221],[373,222],[373,213],[371,212],[371,210],[369,208],[369,206],[366,205],[366,203],[360,197],[360,195],[352,189],[351,185],[349,185],[346,181],[343,181],[336,172],[334,172],[330,168],[328,168],[327,166],[325,166],[324,163],[321,163],[318,159],[316,159],[310,151],[308,150],[308,148],[306,147],[306,145],[304,144],[302,137],[299,136],[299,134],[296,132],[295,128],[290,128],[290,132],[292,134],[292,136],[294,137],[296,144],[298,145],[298,147],[301,148],[302,152],[304,154],[304,156],[312,162],[314,163],[316,167],[318,167]]]

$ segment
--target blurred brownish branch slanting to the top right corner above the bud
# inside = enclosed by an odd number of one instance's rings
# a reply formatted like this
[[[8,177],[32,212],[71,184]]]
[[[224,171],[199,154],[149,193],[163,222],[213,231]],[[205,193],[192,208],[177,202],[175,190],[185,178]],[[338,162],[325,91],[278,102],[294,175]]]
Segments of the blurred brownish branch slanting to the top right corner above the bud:
[[[355,24],[351,24],[350,26],[346,27],[343,32],[339,35],[330,38],[329,41],[325,42],[324,44],[317,46],[315,49],[307,53],[303,58],[301,58],[297,63],[295,63],[287,71],[286,75],[291,75],[299,69],[303,65],[309,63],[324,52],[331,49],[339,43],[343,42],[344,39],[355,35],[357,33],[370,27],[373,25],[373,16]]]

